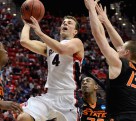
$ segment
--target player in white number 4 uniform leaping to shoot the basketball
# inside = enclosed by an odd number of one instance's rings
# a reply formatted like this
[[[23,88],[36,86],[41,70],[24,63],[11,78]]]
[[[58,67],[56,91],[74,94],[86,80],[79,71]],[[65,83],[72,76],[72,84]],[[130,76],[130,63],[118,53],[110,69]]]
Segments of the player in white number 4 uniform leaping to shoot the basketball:
[[[78,114],[75,107],[76,72],[80,71],[84,57],[84,47],[80,39],[75,38],[78,33],[78,22],[72,16],[64,17],[60,28],[60,42],[44,34],[34,17],[32,24],[24,22],[20,43],[23,47],[47,56],[48,78],[42,96],[30,98],[24,112],[17,121],[46,121],[56,118],[57,121],[77,121]],[[30,40],[29,32],[33,28],[43,42]],[[76,70],[76,65],[79,65]]]

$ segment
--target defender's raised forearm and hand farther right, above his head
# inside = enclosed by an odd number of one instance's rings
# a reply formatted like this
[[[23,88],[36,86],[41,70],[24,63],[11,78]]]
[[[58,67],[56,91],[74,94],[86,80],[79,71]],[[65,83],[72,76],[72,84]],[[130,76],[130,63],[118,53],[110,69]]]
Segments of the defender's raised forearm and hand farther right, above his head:
[[[102,5],[97,4],[96,11],[98,13],[99,20],[105,26],[105,28],[110,36],[111,42],[117,50],[117,48],[122,46],[124,44],[124,42],[123,42],[122,38],[120,37],[120,35],[115,30],[115,28],[112,26],[111,22],[109,21],[108,16],[106,14],[106,7],[104,7],[104,10],[103,10]]]

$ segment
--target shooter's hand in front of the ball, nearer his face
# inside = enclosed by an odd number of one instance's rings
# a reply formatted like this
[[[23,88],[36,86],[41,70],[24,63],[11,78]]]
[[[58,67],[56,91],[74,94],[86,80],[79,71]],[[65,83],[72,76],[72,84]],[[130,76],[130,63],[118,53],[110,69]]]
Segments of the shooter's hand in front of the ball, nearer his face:
[[[38,21],[33,16],[30,17],[30,20],[32,21],[32,23],[29,23],[30,27],[34,29],[37,35],[40,34],[42,31]]]

